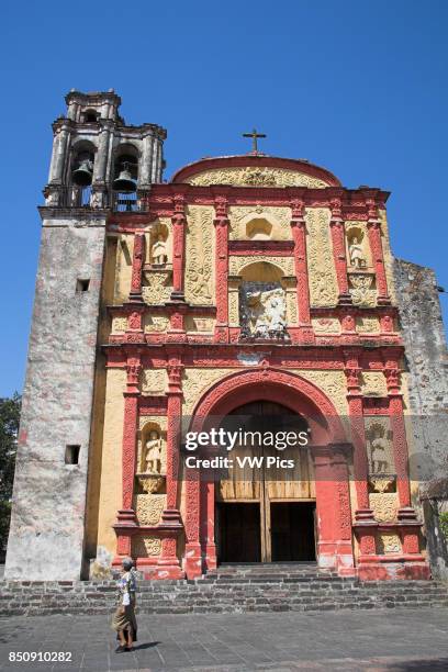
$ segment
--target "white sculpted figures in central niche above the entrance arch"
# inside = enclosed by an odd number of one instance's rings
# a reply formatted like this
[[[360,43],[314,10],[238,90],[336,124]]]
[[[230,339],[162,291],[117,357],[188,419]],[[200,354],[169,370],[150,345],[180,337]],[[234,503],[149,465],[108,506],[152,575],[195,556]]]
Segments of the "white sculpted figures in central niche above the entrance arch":
[[[288,338],[287,306],[281,288],[247,292],[244,303],[244,338]]]

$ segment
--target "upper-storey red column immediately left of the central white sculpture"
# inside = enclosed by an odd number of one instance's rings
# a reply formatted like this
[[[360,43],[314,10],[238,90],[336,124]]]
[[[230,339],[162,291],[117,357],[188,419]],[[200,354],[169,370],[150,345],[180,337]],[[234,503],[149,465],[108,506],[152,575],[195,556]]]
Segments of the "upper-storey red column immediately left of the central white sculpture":
[[[215,268],[216,268],[216,327],[215,340],[228,340],[228,217],[227,199],[215,199]]]

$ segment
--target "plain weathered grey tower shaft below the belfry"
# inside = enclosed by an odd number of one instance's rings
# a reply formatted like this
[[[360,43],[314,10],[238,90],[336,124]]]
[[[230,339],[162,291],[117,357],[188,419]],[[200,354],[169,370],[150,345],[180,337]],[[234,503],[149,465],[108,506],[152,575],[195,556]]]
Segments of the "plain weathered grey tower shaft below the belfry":
[[[104,224],[44,214],[7,579],[80,578]],[[67,445],[80,446],[78,464],[65,463]]]

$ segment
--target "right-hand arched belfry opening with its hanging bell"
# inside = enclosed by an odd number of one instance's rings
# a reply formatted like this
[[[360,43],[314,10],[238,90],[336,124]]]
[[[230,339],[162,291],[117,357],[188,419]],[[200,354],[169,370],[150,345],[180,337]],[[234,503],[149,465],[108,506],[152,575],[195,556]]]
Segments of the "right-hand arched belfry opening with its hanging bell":
[[[115,150],[112,191],[120,212],[137,209],[138,156],[138,149],[131,144],[119,145]]]

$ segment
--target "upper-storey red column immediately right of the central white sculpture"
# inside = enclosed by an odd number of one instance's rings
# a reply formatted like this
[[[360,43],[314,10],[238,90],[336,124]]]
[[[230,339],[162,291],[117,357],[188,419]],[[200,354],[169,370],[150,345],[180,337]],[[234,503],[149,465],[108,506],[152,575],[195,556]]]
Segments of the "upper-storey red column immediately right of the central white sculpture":
[[[291,229],[294,240],[294,267],[298,279],[299,326],[311,329],[310,289],[306,265],[306,224],[303,216],[303,201],[291,201]]]

